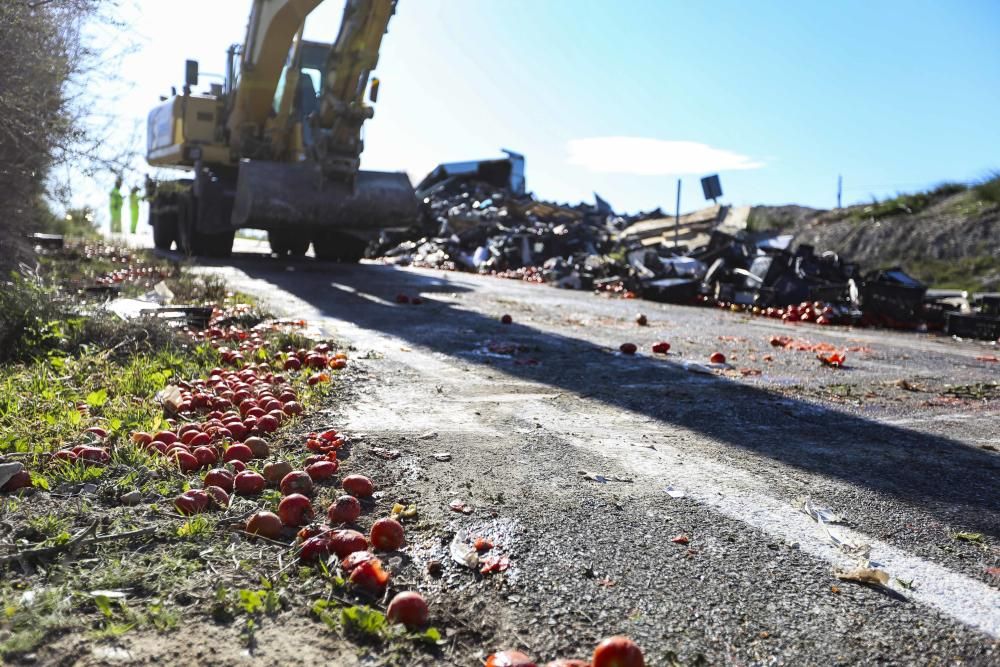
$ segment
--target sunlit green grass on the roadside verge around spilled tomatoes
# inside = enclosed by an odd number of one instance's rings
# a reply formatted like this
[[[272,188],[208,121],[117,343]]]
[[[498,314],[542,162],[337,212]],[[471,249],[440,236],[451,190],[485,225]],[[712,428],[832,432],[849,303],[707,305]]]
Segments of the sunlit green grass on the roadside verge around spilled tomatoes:
[[[215,280],[182,283],[192,298],[234,299]],[[218,352],[159,323],[75,314],[76,304],[34,278],[0,287],[0,302],[10,307],[0,311],[0,327],[6,327],[0,332],[12,332],[7,351],[16,351],[0,359],[0,454],[23,461],[42,490],[87,482],[97,487],[92,494],[72,497],[37,492],[0,496],[3,541],[17,540],[25,548],[54,546],[98,521],[101,535],[155,528],[142,536],[89,545],[82,558],[54,557],[35,574],[0,570],[0,663],[66,633],[106,641],[136,629],[170,632],[182,618],[190,625],[192,610],[199,614],[195,622],[204,622],[215,609],[212,591],[221,584],[234,592],[224,593],[216,606],[221,605],[227,620],[245,624],[252,644],[261,623],[289,608],[288,590],[261,579],[273,575],[277,554],[287,550],[258,544],[244,550],[237,562],[227,550],[223,528],[228,522],[222,523],[222,515],[176,516],[172,498],[197,484],[193,476],[129,441],[133,430],[166,425],[156,392],[181,379],[206,377],[220,365]],[[248,326],[263,316],[251,310],[240,321]],[[285,346],[314,344],[294,333],[268,332],[265,337],[269,345],[261,361],[275,364],[283,359],[277,351]],[[309,387],[307,377],[306,372],[291,374],[299,400],[309,405],[329,392],[332,383]],[[290,420],[283,428],[294,429],[297,423]],[[50,460],[53,451],[87,442],[90,426],[109,431],[103,443],[111,452],[106,465]],[[283,454],[279,450],[277,456]],[[118,498],[131,490],[154,496],[154,504],[146,500],[123,506]],[[280,499],[278,492],[270,496],[263,500]],[[286,555],[294,558],[291,552]],[[121,591],[127,598],[92,591]]]

